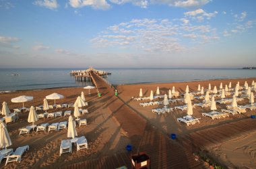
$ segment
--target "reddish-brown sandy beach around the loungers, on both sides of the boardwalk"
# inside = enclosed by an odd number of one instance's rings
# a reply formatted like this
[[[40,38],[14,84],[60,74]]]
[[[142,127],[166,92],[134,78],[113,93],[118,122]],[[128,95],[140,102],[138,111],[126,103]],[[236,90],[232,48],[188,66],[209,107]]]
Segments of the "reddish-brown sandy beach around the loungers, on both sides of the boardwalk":
[[[177,133],[177,135],[189,135],[195,132],[205,131],[206,129],[211,129],[214,127],[222,126],[226,123],[234,123],[236,121],[243,121],[249,119],[251,115],[255,115],[254,111],[247,110],[246,113],[229,115],[226,118],[221,119],[211,119],[210,117],[203,117],[201,113],[209,112],[210,107],[201,108],[196,107],[193,109],[193,116],[199,117],[200,123],[195,125],[185,125],[184,123],[179,123],[177,118],[187,115],[187,111],[174,110],[171,113],[166,113],[164,115],[157,115],[152,113],[152,109],[158,106],[152,107],[141,107],[139,103],[145,101],[134,101],[132,97],[139,97],[139,89],[143,89],[143,96],[150,96],[150,91],[156,93],[156,88],[160,88],[160,95],[168,94],[168,90],[175,87],[176,91],[180,93],[185,93],[185,88],[189,85],[189,91],[195,92],[197,90],[197,85],[201,84],[201,87],[207,89],[208,84],[212,84],[212,89],[214,86],[219,88],[220,82],[223,86],[232,82],[232,87],[235,86],[236,82],[240,82],[243,86],[245,81],[251,85],[251,82],[255,80],[254,78],[244,78],[244,79],[226,79],[226,80],[207,80],[207,81],[196,81],[196,82],[172,82],[172,83],[162,83],[162,84],[127,84],[119,85],[117,91],[119,92],[119,97],[115,97],[108,90],[100,88],[100,93],[102,97],[98,97],[96,89],[91,90],[91,95],[88,96],[88,91],[82,88],[58,88],[58,89],[45,89],[36,91],[18,91],[14,93],[1,93],[0,102],[6,101],[9,108],[12,109],[22,107],[22,103],[11,103],[11,98],[18,97],[20,95],[32,96],[34,99],[24,103],[25,107],[30,107],[31,105],[37,106],[42,105],[42,101],[46,95],[51,93],[59,93],[64,96],[64,99],[59,99],[56,103],[74,103],[77,96],[84,91],[86,95],[86,101],[89,106],[85,107],[88,109],[89,113],[79,117],[81,119],[87,119],[88,125],[82,127],[76,127],[78,136],[85,135],[88,140],[88,150],[81,150],[77,152],[75,148],[72,154],[63,154],[59,156],[59,146],[61,139],[67,138],[67,130],[62,129],[60,131],[50,131],[50,133],[44,133],[40,131],[36,133],[32,131],[29,134],[19,135],[19,130],[22,127],[30,125],[27,121],[28,112],[19,113],[18,121],[14,123],[8,123],[7,129],[13,143],[9,148],[18,148],[19,146],[29,145],[30,150],[22,156],[22,162],[11,162],[4,166],[5,160],[1,162],[1,168],[59,168],[61,166],[67,166],[69,164],[75,164],[77,162],[82,162],[90,159],[96,159],[100,156],[110,156],[113,154],[125,153],[125,146],[127,144],[133,143],[133,139],[130,137],[130,133],[125,131],[125,126],[120,122],[119,117],[113,116],[115,112],[111,105],[115,105],[115,101],[111,99],[120,99],[124,105],[132,109],[139,117],[143,118],[148,124],[153,126],[157,131],[163,133],[168,137],[170,133]],[[255,92],[254,92],[255,93]],[[231,98],[231,96],[230,96]],[[199,100],[193,100],[192,103],[199,103]],[[249,103],[248,99],[238,102],[238,105],[246,105]],[[53,105],[53,100],[49,100],[49,105]],[[170,103],[170,107],[177,105],[184,105],[184,103]],[[161,107],[161,106],[160,106]],[[218,110],[226,108],[224,104],[217,104]],[[49,112],[55,111],[73,111],[73,107],[52,109]],[[42,113],[43,111],[37,111],[37,113]],[[2,116],[1,116],[2,117]],[[60,121],[68,121],[68,117],[56,117],[49,119],[39,119],[36,121],[36,125],[42,123],[55,123]],[[138,132],[139,133],[139,132]],[[253,136],[255,131],[250,131],[247,133],[246,137],[238,137],[238,135],[232,135],[232,137],[223,138],[222,142],[217,145],[203,145],[205,150],[210,150],[210,154],[213,156],[220,156],[219,160],[224,162],[222,164],[226,167],[238,167],[238,168],[253,168],[255,166],[255,137]],[[231,143],[231,144],[230,144]],[[195,145],[197,145],[195,143]],[[233,155],[233,152],[238,154]],[[248,158],[249,157],[249,158]],[[246,160],[247,159],[247,160]],[[251,160],[248,160],[251,159]]]

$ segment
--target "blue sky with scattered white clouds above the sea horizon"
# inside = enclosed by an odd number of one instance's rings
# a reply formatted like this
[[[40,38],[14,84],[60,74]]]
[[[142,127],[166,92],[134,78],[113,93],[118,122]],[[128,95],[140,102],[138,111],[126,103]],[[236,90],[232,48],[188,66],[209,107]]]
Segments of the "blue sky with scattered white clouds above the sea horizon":
[[[0,68],[256,66],[253,0],[0,0]]]

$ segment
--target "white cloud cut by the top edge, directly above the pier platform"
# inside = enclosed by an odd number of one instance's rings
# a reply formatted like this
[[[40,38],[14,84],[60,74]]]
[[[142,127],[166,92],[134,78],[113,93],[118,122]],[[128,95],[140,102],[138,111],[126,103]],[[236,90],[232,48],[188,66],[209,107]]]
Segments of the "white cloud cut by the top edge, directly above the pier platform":
[[[106,0],[69,0],[69,5],[74,8],[90,6],[94,9],[109,9]]]

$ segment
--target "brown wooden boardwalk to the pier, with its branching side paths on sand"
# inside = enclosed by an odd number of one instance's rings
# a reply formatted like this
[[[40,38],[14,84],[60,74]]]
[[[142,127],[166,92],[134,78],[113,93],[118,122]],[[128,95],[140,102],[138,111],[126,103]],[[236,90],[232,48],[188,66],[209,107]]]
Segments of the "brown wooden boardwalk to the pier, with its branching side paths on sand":
[[[253,119],[239,119],[209,129],[193,131],[172,140],[161,129],[157,129],[150,121],[133,111],[122,99],[116,97],[115,91],[100,76],[94,72],[90,72],[90,75],[98,91],[102,93],[102,101],[106,102],[113,118],[120,123],[131,140],[133,151],[146,152],[150,156],[151,168],[205,168],[201,162],[195,160],[193,152],[205,150],[205,146],[219,144],[225,139],[243,135],[248,131],[256,131]],[[122,152],[64,168],[131,168],[130,156],[128,152]]]

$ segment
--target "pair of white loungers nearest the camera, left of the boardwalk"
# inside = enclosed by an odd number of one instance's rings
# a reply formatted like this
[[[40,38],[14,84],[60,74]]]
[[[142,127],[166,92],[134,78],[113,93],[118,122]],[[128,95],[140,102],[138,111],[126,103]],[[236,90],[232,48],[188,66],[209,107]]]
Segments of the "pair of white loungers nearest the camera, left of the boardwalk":
[[[61,141],[61,147],[59,150],[59,156],[61,156],[61,154],[63,153],[72,153],[72,143],[75,144],[75,146],[77,147],[77,151],[81,150],[81,149],[88,149],[88,142],[86,137],[82,136],[82,137],[75,137],[73,139],[63,139]]]

